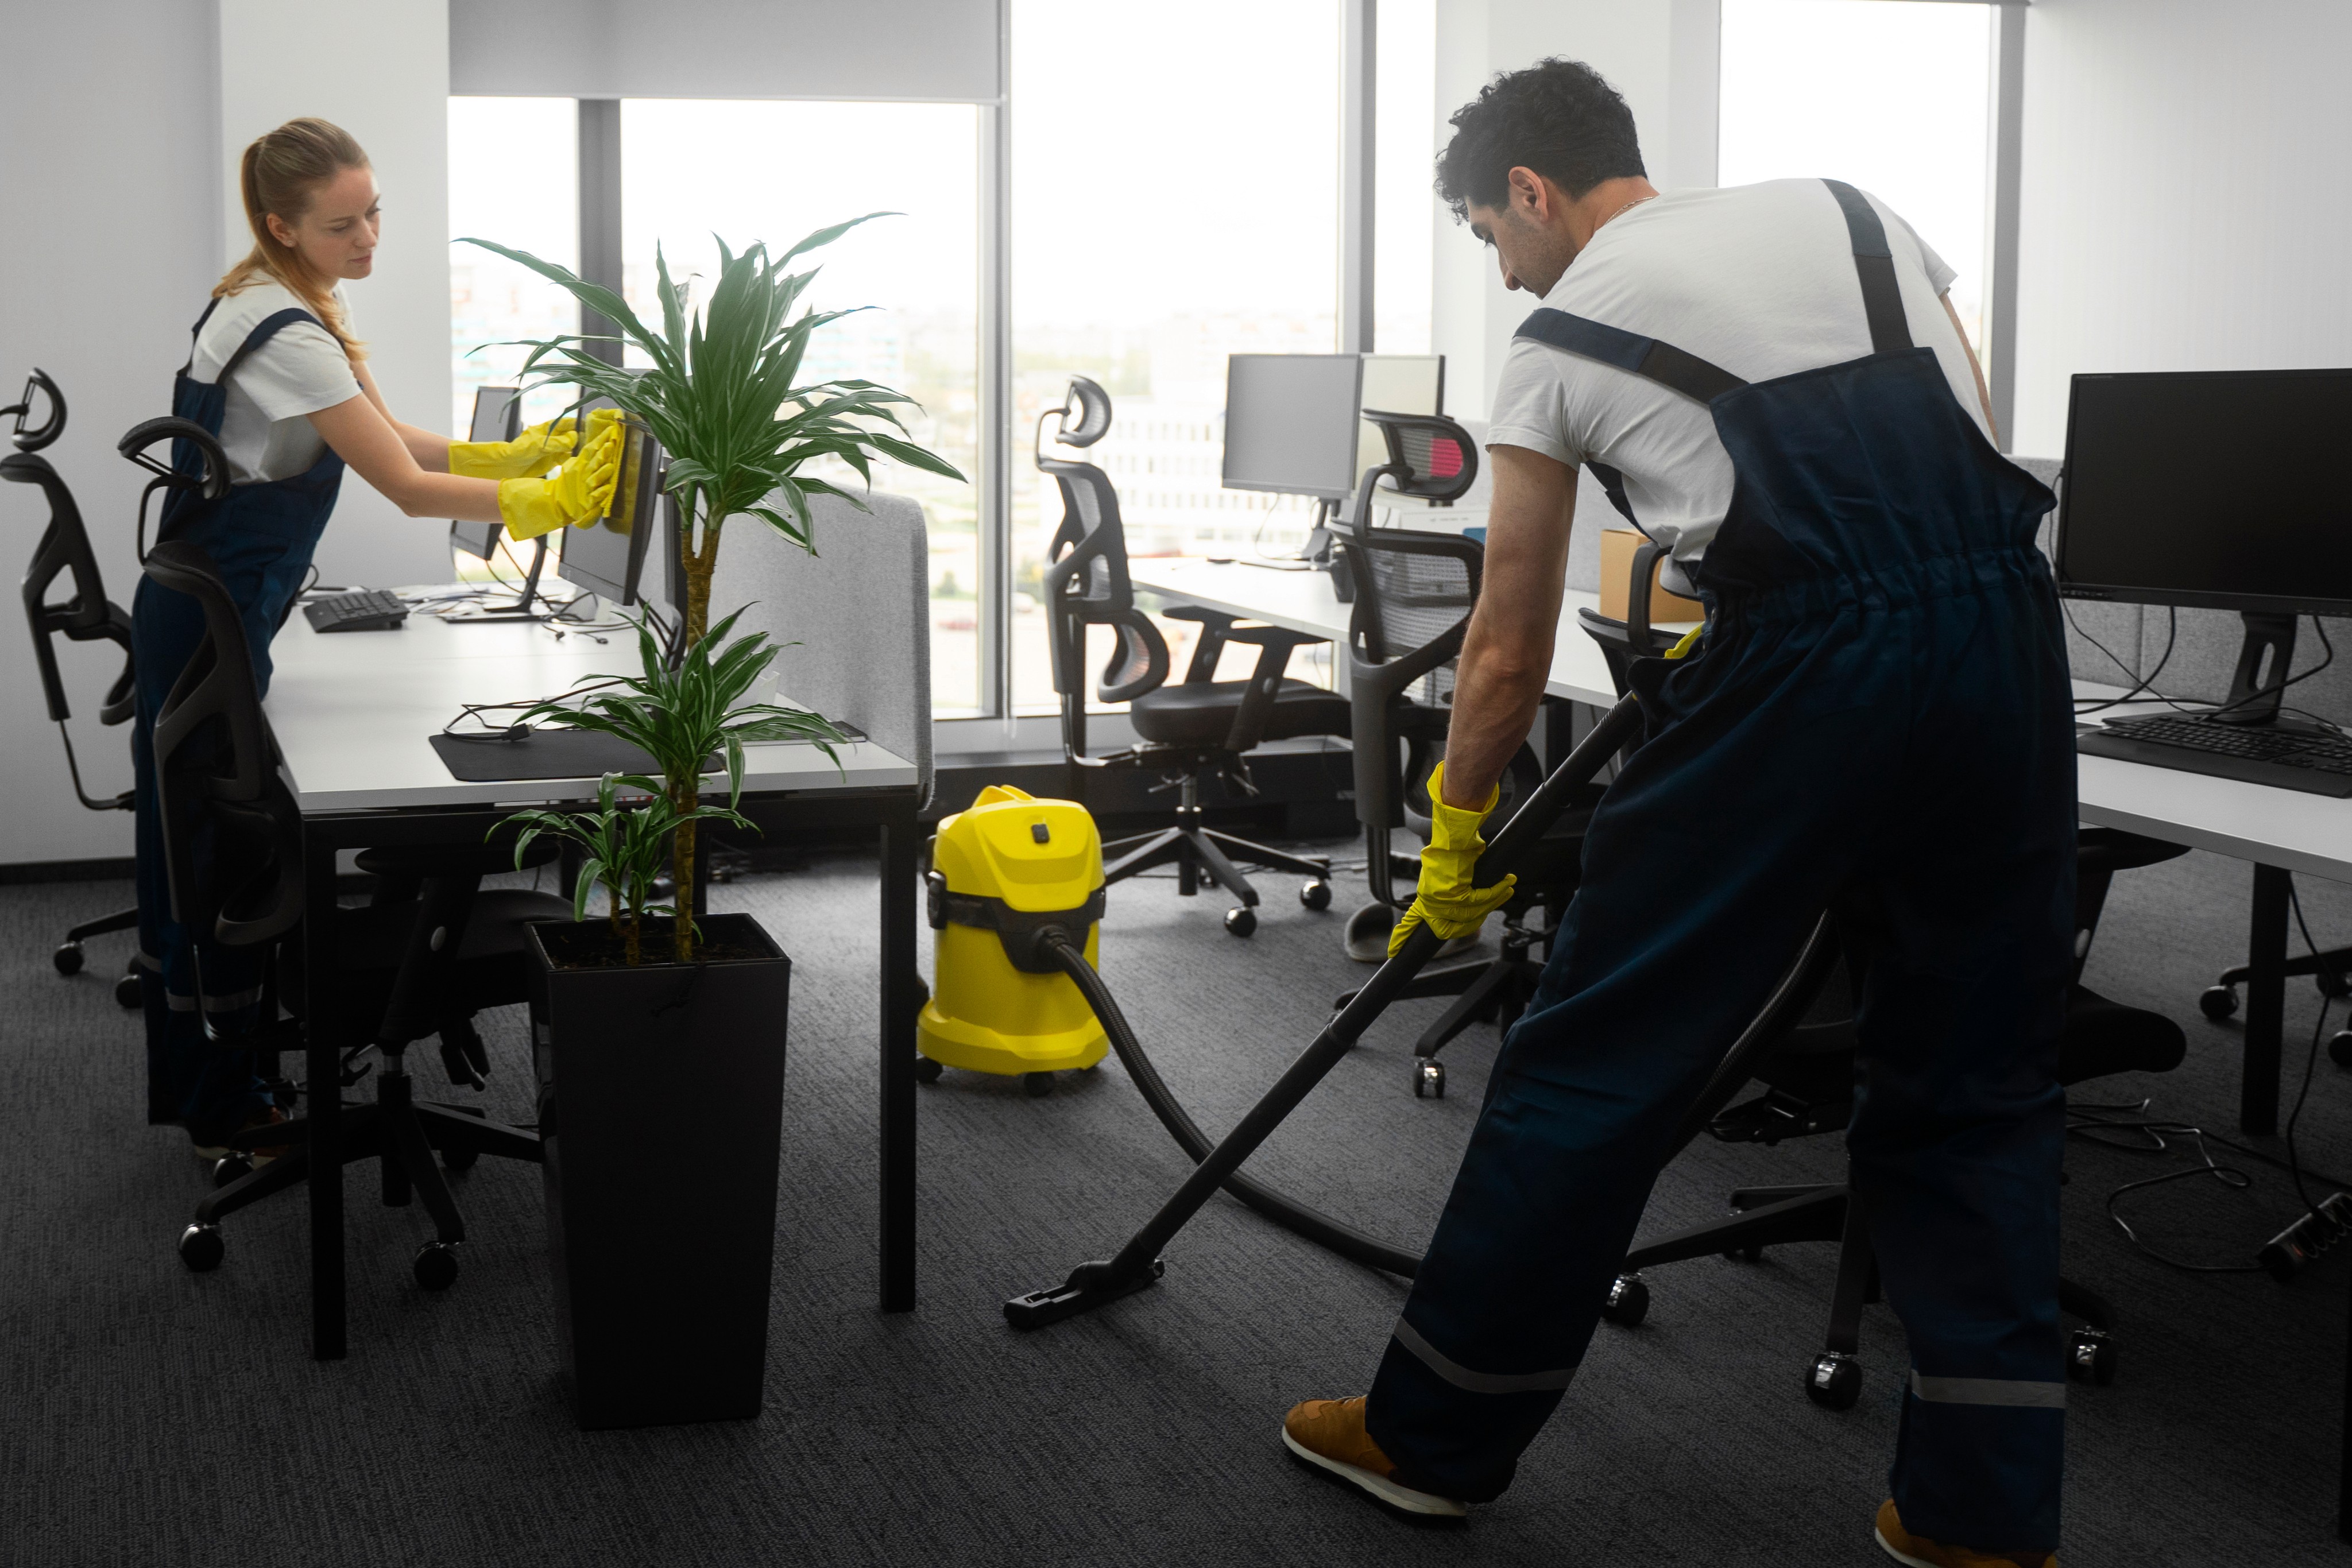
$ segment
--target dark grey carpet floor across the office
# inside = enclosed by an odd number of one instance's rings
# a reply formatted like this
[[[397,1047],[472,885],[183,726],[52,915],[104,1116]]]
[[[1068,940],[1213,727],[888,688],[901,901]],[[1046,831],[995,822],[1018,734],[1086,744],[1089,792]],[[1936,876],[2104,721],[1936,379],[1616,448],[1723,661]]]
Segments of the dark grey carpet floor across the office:
[[[2180,1018],[2183,1070],[2079,1098],[2140,1100],[2227,1133],[2237,1030],[2194,1006],[2244,947],[2246,870],[2209,856],[2117,886],[2091,961],[2107,994]],[[1338,914],[1279,884],[1258,936],[1171,882],[1115,891],[1103,969],[1162,1072],[1230,1126],[1367,971]],[[1813,1408],[1828,1246],[1651,1276],[1637,1331],[1602,1326],[1571,1399],[1505,1500],[1416,1530],[1317,1483],[1275,1441],[1301,1396],[1369,1382],[1402,1286],[1218,1199],[1164,1284],[1014,1335],[1002,1298],[1105,1255],[1185,1161],[1117,1070],[1030,1100],[950,1072],[922,1095],[922,1305],[875,1309],[873,860],[818,858],[720,889],[793,952],[767,1413],[757,1422],[583,1434],[555,1385],[539,1173],[459,1178],[470,1244],[426,1295],[414,1208],[350,1178],[350,1359],[306,1359],[303,1215],[235,1215],[228,1262],[172,1241],[200,1194],[186,1138],[143,1126],[141,1046],[92,973],[49,969],[56,933],[125,884],[0,889],[0,1561],[7,1563],[1872,1563],[1903,1333],[1865,1319],[1858,1408]],[[1345,905],[1348,898],[1343,896]],[[2303,882],[2319,940],[2352,938],[2352,891]],[[1355,1222],[1418,1241],[1468,1138],[1494,1032],[1449,1053],[1451,1093],[1414,1100],[1399,1006],[1251,1166]],[[2291,1081],[2317,999],[2288,1001]],[[2338,1009],[2340,1013],[2340,1009]],[[485,1020],[480,1103],[527,1117],[517,1016]],[[430,1051],[419,1058],[435,1072]],[[2352,1074],[2319,1058],[2300,1147],[2352,1175]],[[659,1093],[654,1077],[649,1093]],[[461,1098],[452,1091],[447,1098]],[[2284,1140],[2258,1140],[2284,1152]],[[661,1150],[649,1147],[659,1161]],[[2223,1154],[2225,1157],[2225,1154]],[[2070,1413],[2070,1568],[2333,1563],[2347,1258],[2279,1286],[2192,1276],[2133,1251],[2105,1197],[2185,1147],[2072,1145],[2067,1269],[2114,1295],[2122,1378]],[[1722,1213],[1740,1182],[1828,1180],[1835,1138],[1703,1143],[1658,1182],[1646,1232]],[[2124,1199],[2180,1255],[2251,1262],[2296,1213],[2284,1175]]]

